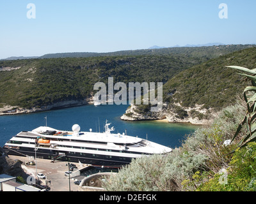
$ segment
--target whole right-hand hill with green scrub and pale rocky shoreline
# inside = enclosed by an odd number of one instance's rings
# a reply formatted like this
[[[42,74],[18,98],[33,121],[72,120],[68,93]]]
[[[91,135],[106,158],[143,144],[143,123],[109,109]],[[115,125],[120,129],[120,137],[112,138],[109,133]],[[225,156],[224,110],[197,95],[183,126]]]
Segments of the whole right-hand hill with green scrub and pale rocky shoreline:
[[[168,119],[169,122],[202,124],[223,107],[234,104],[236,93],[243,93],[247,82],[236,71],[226,68],[236,64],[255,68],[256,49],[248,48],[221,55],[186,69],[163,86],[161,112],[152,113],[145,106],[132,105],[124,120]]]

